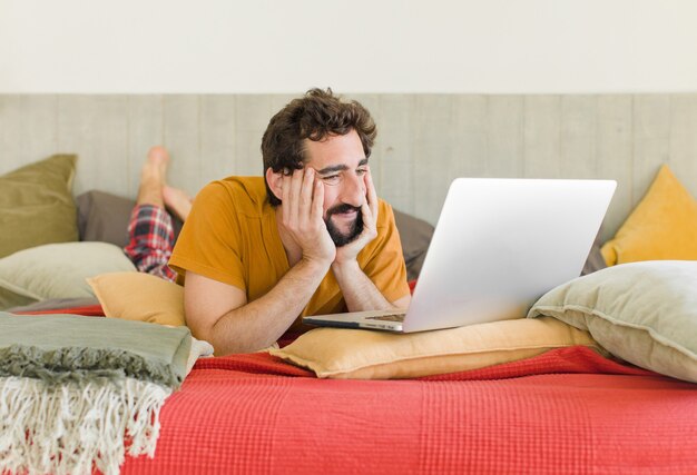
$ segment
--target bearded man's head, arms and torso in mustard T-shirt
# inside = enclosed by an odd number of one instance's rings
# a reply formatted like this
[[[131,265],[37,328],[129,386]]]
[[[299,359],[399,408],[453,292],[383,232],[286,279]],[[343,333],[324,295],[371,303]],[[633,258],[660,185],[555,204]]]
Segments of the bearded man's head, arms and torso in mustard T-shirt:
[[[187,325],[216,355],[268,347],[306,315],[409,306],[394,216],[369,166],[375,136],[359,102],[312,89],[271,119],[264,177],[196,196],[169,266]]]

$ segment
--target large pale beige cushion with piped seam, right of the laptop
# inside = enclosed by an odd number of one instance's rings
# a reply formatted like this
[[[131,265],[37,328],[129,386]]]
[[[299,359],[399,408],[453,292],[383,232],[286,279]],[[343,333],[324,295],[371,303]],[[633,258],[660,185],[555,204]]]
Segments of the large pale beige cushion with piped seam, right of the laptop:
[[[609,267],[549,291],[528,316],[551,316],[587,329],[617,357],[697,383],[695,261]]]

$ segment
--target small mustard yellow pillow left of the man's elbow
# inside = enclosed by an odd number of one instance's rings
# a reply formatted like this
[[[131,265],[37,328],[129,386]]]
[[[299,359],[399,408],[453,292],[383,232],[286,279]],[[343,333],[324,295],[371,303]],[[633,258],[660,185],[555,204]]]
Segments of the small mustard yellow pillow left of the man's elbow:
[[[144,273],[108,273],[87,279],[107,317],[181,326],[184,288]]]

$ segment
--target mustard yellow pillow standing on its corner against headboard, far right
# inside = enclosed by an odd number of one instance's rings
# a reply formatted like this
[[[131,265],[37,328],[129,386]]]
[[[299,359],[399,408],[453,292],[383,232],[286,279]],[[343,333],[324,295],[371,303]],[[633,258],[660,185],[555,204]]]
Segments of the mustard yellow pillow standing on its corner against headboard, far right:
[[[697,201],[667,165],[660,168],[646,196],[601,251],[608,266],[697,259]]]

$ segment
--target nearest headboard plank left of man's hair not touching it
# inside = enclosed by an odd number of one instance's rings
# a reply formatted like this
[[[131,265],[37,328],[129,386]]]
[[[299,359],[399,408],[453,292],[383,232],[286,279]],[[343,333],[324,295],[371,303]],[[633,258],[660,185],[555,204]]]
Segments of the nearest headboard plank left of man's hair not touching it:
[[[235,96],[200,97],[202,186],[235,172]]]

